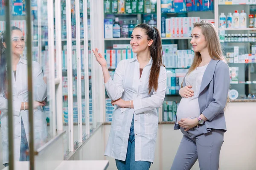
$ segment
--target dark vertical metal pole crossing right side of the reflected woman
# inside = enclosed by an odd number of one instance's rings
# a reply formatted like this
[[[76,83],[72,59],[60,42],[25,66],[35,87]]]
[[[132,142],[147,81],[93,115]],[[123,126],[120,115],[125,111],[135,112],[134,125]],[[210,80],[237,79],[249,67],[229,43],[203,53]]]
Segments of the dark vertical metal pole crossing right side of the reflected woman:
[[[28,92],[29,92],[29,164],[30,170],[35,169],[34,164],[34,122],[33,122],[33,85],[32,85],[32,29],[31,29],[31,5],[26,0],[26,28],[27,33],[27,63],[28,63]],[[40,10],[40,9],[39,9]]]

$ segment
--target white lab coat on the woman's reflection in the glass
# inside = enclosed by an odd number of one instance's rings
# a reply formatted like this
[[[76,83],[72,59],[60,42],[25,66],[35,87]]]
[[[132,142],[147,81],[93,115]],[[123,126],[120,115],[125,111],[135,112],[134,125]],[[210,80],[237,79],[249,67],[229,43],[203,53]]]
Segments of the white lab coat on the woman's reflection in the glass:
[[[47,97],[47,85],[43,79],[43,73],[38,62],[32,62],[32,81],[33,81],[33,100],[44,101]],[[20,160],[20,141],[21,141],[21,116],[26,131],[26,138],[29,142],[29,111],[20,110],[21,102],[28,102],[28,79],[27,61],[20,58],[17,64],[16,80],[12,72],[12,105],[13,105],[13,127],[14,127],[14,159]],[[4,98],[3,92],[0,94],[1,111],[1,131],[3,164],[9,162],[8,147],[8,99]],[[46,115],[41,107],[34,109],[34,142],[35,145],[44,142],[47,138]]]

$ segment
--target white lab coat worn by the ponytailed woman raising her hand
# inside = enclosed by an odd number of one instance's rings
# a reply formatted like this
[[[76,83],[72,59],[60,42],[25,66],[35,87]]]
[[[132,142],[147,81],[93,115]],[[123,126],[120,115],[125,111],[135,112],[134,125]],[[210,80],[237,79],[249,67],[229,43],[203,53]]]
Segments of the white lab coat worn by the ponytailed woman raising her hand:
[[[111,131],[105,156],[125,161],[131,121],[134,115],[135,161],[154,161],[157,139],[157,108],[163,103],[166,93],[166,69],[161,66],[158,89],[148,94],[148,80],[152,58],[143,68],[140,78],[140,63],[136,58],[126,59],[117,65],[113,80],[105,83],[110,99],[133,100],[134,109],[119,108],[113,113]]]

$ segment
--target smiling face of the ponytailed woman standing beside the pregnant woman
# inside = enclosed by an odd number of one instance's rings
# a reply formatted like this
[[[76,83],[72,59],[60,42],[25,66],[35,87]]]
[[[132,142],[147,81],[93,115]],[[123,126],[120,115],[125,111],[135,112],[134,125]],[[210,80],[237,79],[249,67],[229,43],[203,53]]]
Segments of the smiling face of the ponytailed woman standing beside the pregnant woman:
[[[131,34],[131,47],[134,53],[140,53],[148,49],[152,44],[152,40],[148,40],[148,36],[142,28],[134,28]]]

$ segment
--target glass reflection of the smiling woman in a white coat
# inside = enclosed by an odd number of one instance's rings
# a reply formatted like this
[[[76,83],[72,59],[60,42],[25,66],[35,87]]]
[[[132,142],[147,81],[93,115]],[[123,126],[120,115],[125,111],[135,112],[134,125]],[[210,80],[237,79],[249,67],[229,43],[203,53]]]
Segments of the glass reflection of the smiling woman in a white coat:
[[[0,34],[0,111],[3,164],[9,164],[8,143],[8,86],[6,73],[6,31]],[[12,27],[12,105],[14,128],[14,158],[15,161],[29,161],[26,150],[29,149],[29,112],[28,112],[28,77],[27,61],[20,57],[25,48],[25,40],[20,28]],[[41,106],[47,97],[47,85],[43,79],[43,73],[38,62],[32,62],[33,81],[33,108],[34,108],[34,142],[35,145],[45,142],[47,138],[46,115]]]

